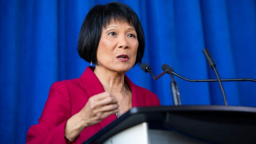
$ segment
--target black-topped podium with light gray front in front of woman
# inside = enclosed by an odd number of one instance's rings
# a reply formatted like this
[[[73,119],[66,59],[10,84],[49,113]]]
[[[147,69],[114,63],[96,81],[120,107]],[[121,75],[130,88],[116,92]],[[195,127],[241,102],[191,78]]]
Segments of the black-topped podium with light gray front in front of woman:
[[[134,107],[83,144],[256,143],[256,108]]]

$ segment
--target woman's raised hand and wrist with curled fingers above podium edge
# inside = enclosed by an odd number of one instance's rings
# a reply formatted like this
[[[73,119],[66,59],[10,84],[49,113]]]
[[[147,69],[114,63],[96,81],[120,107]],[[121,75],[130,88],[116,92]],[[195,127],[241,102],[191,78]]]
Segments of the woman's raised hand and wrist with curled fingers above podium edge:
[[[75,139],[83,129],[117,113],[117,110],[118,104],[114,95],[108,92],[96,94],[89,98],[80,112],[68,119],[65,136],[68,139]]]

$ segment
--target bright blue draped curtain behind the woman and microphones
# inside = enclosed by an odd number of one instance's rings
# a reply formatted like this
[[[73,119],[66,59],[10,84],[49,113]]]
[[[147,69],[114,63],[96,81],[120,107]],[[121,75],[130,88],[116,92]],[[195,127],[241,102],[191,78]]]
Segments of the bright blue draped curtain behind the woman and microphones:
[[[79,58],[78,32],[87,12],[109,0],[0,0],[0,139],[25,143],[54,81],[79,77],[89,63]],[[143,62],[155,75],[161,65],[190,79],[216,79],[202,50],[207,48],[221,78],[256,79],[255,0],[120,0],[138,14],[146,49]],[[153,80],[135,66],[137,85],[173,105],[170,76]],[[218,82],[178,77],[182,105],[223,105]],[[223,82],[228,105],[256,107],[255,82]]]

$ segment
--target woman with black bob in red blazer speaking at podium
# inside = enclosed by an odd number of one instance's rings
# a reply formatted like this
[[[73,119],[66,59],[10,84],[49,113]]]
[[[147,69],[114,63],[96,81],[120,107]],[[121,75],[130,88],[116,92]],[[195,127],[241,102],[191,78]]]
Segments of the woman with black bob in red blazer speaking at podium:
[[[124,74],[141,63],[144,47],[141,24],[130,7],[118,2],[93,7],[80,30],[78,53],[95,68],[53,83],[27,143],[82,143],[132,107],[159,106],[156,94]]]

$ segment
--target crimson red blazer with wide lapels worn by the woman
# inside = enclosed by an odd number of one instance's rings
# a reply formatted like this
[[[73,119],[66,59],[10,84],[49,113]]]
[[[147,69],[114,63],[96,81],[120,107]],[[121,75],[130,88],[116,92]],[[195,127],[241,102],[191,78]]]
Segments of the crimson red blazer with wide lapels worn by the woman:
[[[31,126],[28,130],[27,143],[66,143],[64,129],[67,120],[85,106],[89,97],[104,92],[93,70],[94,67],[87,67],[80,78],[53,83],[42,115],[38,120],[39,124]],[[126,75],[124,79],[132,90],[132,107],[160,105],[156,94],[133,84]],[[75,143],[84,142],[116,118],[113,114],[85,128],[75,139]]]

